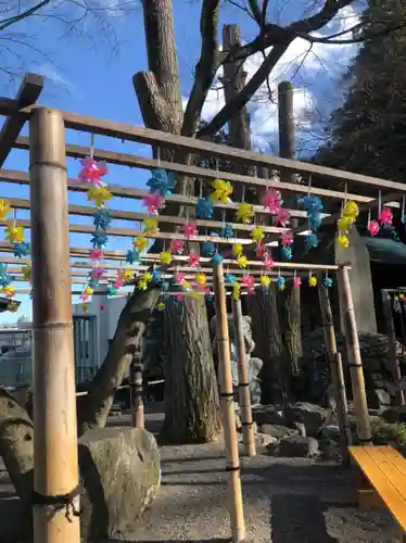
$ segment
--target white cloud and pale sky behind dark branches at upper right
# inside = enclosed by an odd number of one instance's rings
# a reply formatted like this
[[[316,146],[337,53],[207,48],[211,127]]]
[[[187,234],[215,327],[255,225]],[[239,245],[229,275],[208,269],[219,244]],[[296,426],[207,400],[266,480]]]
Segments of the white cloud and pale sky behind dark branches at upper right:
[[[340,11],[340,14],[323,29],[332,34],[343,31],[353,27],[358,22],[357,13],[350,7]],[[321,36],[321,34],[315,34]],[[351,34],[338,39],[347,39]],[[253,146],[256,149],[269,149],[278,152],[278,104],[277,88],[283,79],[292,79],[294,86],[294,117],[297,128],[297,139],[306,139],[306,134],[312,125],[320,116],[320,112],[331,111],[339,99],[340,76],[346,70],[348,62],[354,58],[357,50],[355,45],[327,46],[322,43],[310,43],[302,38],[296,38],[283,58],[272,70],[268,85],[264,84],[249,104],[251,115],[251,130]],[[244,63],[248,80],[255,74],[264,58],[262,53],[250,56]],[[221,84],[218,78],[223,70],[217,74],[215,88],[210,90],[203,108],[202,117],[211,119],[225,104]],[[272,94],[269,100],[268,87]],[[335,102],[334,102],[335,99]],[[183,98],[183,105],[187,99]],[[308,138],[307,138],[308,139]],[[300,146],[300,143],[299,143]]]

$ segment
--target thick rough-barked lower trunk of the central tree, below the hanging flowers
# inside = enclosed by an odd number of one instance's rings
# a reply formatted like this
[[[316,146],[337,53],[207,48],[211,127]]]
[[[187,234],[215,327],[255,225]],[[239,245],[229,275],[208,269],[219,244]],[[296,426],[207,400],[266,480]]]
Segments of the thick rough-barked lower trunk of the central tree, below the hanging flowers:
[[[203,296],[181,304],[170,296],[165,311],[165,422],[172,443],[214,441],[221,428],[217,380]]]

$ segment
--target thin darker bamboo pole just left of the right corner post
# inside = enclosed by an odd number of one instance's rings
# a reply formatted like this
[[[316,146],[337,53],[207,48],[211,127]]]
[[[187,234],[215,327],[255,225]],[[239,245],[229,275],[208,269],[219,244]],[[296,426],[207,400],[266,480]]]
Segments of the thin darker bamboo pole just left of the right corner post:
[[[331,381],[338,408],[340,427],[340,444],[343,463],[348,463],[348,446],[352,444],[352,434],[348,420],[348,405],[346,401],[345,382],[341,354],[337,350],[334,323],[332,318],[329,292],[321,282],[318,283],[318,295],[321,310],[322,331],[325,336],[328,361],[330,365]]]

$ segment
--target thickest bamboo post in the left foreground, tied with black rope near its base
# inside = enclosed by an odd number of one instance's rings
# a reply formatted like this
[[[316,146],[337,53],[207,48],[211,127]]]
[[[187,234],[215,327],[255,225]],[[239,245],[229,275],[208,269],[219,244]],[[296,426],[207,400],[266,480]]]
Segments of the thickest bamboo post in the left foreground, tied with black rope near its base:
[[[34,541],[79,543],[78,458],[64,122],[29,122],[34,334]]]

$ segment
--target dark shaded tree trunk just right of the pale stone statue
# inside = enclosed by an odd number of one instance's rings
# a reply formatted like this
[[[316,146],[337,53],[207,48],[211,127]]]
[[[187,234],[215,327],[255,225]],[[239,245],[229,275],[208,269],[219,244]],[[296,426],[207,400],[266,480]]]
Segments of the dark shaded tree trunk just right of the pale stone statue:
[[[287,353],[280,331],[275,283],[271,282],[268,289],[257,288],[255,295],[246,299],[256,343],[254,356],[264,362],[259,376],[263,380],[262,403],[281,405],[288,394]]]

